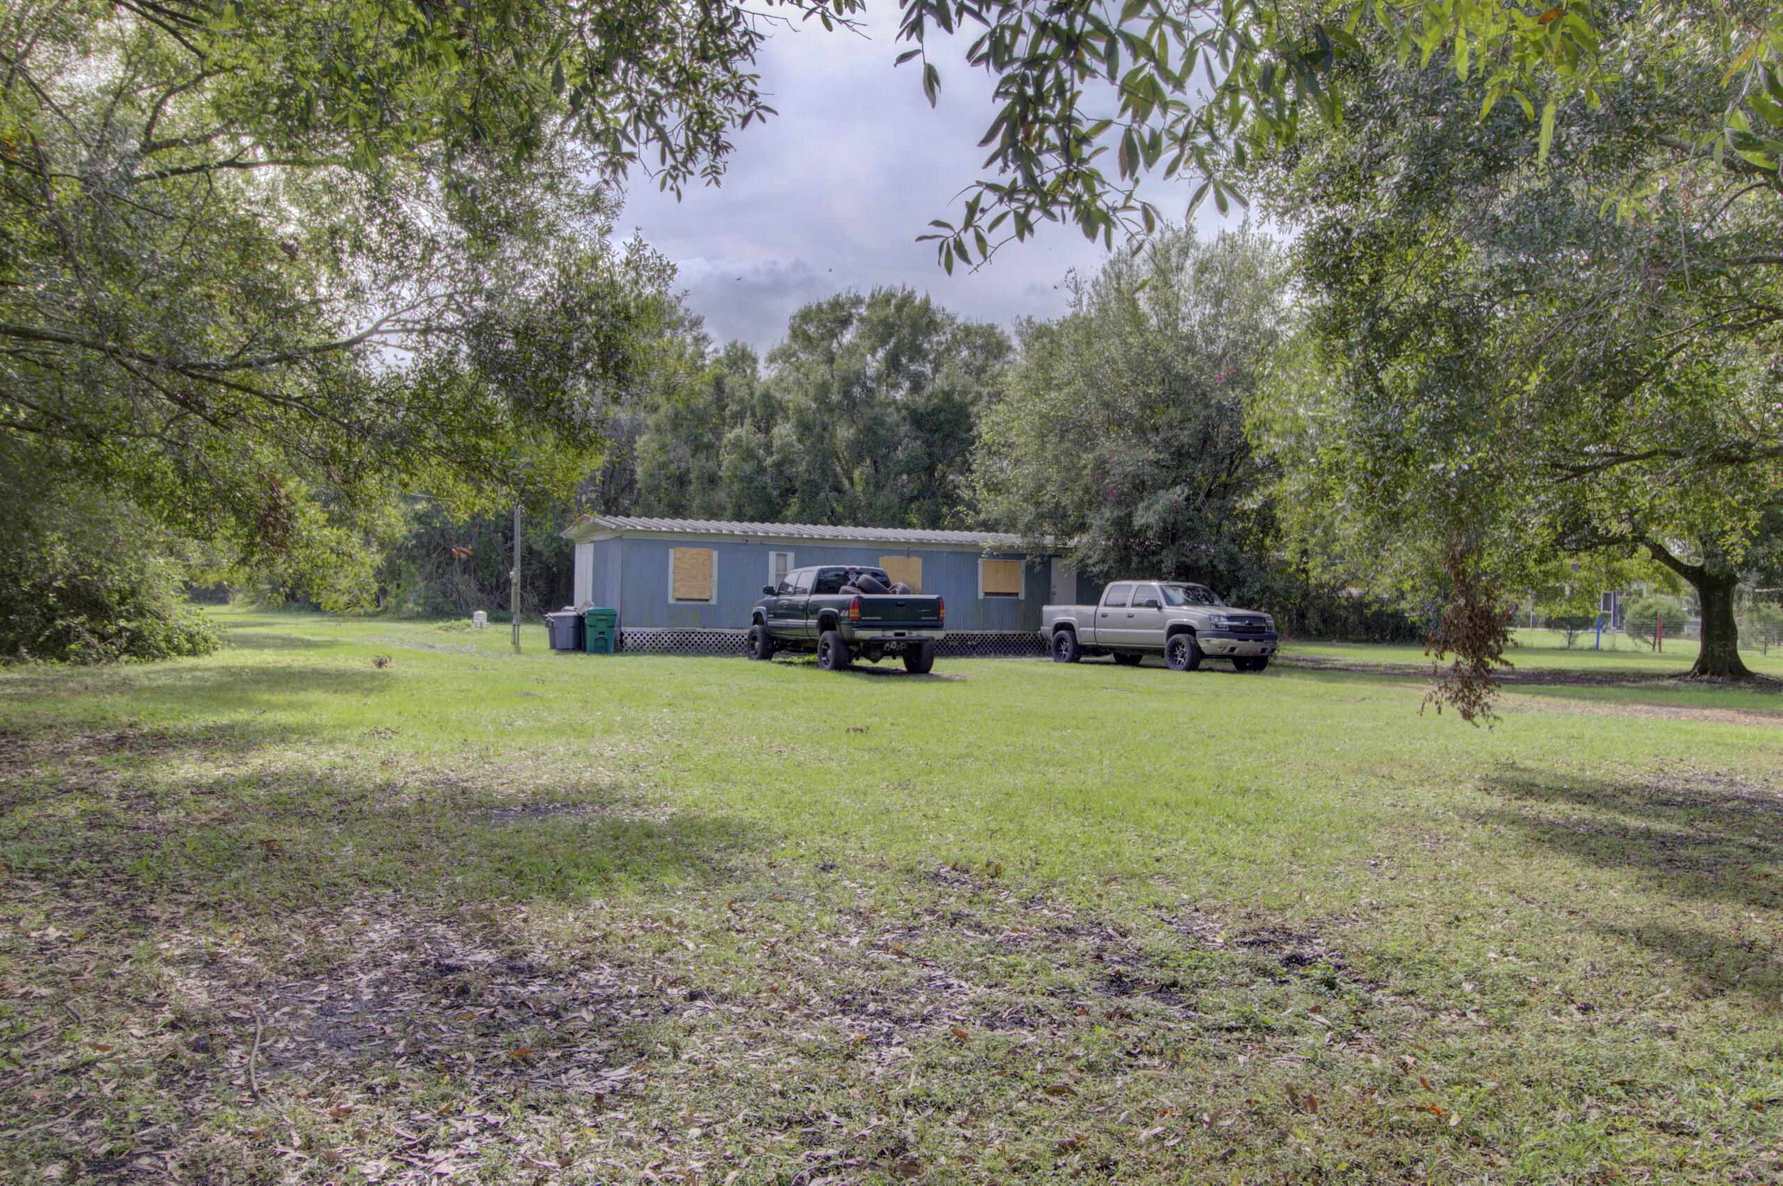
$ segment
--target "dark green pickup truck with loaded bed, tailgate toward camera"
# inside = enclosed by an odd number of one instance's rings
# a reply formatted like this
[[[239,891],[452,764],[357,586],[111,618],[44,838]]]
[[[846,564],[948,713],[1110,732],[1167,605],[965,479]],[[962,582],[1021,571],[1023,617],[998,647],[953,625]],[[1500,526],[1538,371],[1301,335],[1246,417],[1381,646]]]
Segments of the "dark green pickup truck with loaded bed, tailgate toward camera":
[[[856,658],[877,663],[900,655],[904,671],[929,672],[934,644],[945,635],[947,603],[911,592],[861,592],[856,581],[902,589],[884,569],[849,565],[793,569],[779,585],[763,585],[751,612],[749,658],[815,651],[818,667],[842,671]]]

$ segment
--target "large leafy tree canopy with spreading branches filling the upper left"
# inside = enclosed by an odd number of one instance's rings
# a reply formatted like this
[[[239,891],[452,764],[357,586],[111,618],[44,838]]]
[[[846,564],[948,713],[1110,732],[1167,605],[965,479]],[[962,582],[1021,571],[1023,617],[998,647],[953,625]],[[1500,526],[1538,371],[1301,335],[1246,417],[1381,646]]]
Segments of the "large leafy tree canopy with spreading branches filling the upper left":
[[[357,560],[399,489],[512,505],[597,457],[667,269],[608,246],[571,100],[489,55],[521,5],[408,41],[360,20],[387,7],[0,20],[0,437],[50,498],[123,499],[291,574]],[[647,50],[619,75],[685,70]]]

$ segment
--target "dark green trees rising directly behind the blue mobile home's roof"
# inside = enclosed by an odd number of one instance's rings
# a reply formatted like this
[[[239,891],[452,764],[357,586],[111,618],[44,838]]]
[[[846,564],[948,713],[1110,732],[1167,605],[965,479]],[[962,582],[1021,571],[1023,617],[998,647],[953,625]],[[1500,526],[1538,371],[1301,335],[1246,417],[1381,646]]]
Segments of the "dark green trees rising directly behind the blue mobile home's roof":
[[[1007,353],[997,326],[909,289],[806,305],[765,369],[733,342],[649,412],[637,505],[660,515],[968,526],[979,414]]]

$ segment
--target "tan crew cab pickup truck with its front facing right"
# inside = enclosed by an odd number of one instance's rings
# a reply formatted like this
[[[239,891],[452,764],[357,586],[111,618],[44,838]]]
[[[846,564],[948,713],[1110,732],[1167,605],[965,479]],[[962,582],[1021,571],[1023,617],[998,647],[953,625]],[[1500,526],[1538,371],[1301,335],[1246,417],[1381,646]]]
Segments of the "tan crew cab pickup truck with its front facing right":
[[[1182,581],[1114,581],[1097,605],[1041,606],[1039,637],[1059,663],[1084,655],[1113,655],[1116,663],[1163,655],[1171,671],[1195,671],[1211,656],[1262,671],[1280,646],[1268,614],[1234,610],[1205,585]]]

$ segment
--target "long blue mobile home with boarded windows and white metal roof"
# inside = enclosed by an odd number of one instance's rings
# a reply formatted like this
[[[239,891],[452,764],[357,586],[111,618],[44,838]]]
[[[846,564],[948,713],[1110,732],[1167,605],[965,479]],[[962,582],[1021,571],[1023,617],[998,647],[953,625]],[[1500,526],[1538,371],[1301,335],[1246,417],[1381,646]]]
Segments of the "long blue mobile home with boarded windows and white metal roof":
[[[763,585],[813,564],[879,567],[943,596],[954,653],[1039,653],[1039,608],[1097,594],[1057,553],[995,531],[583,515],[563,537],[576,603],[617,608],[626,649],[740,647]]]

